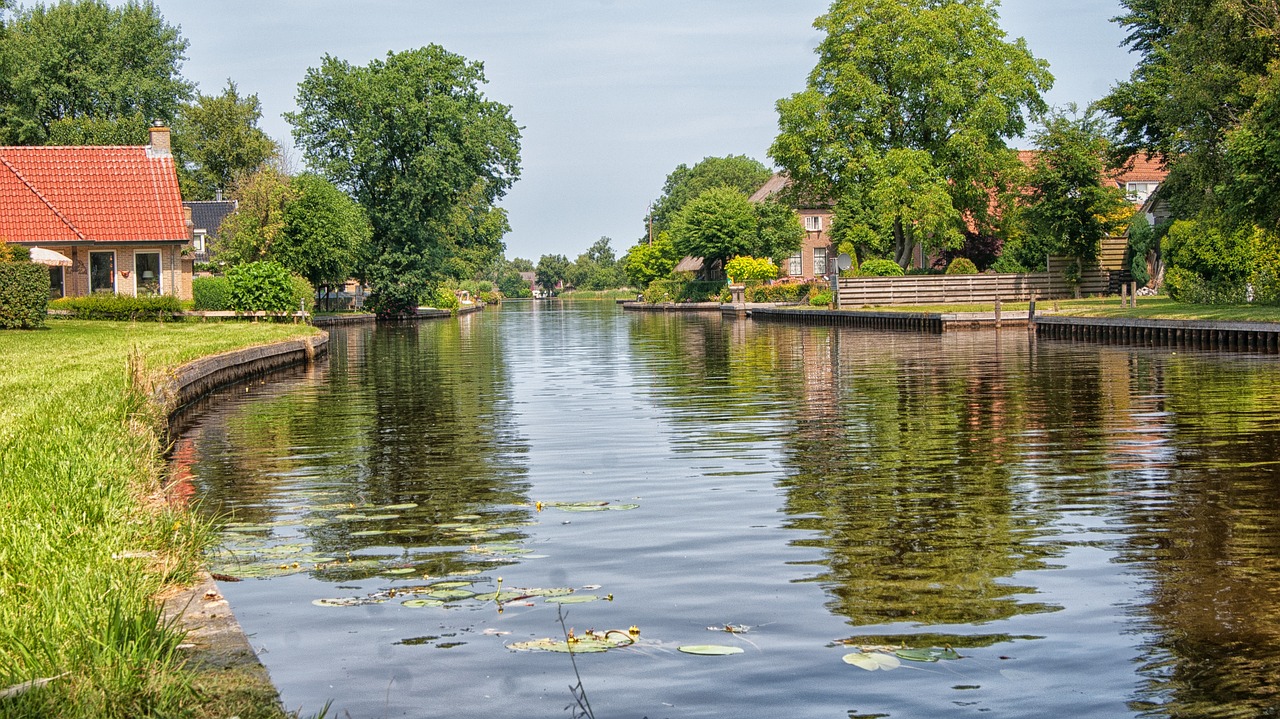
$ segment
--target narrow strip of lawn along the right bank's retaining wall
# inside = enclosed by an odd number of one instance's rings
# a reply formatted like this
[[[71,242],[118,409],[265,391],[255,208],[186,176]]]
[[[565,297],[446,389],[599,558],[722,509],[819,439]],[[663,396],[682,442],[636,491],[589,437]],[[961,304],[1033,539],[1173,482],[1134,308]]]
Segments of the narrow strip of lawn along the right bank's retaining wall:
[[[1002,302],[1002,312],[1025,312],[1028,302]],[[893,304],[846,308],[861,312],[991,312],[992,304]],[[1135,317],[1143,320],[1220,320],[1224,322],[1280,322],[1280,307],[1249,304],[1183,304],[1167,297],[1139,297],[1138,307],[1121,307],[1119,297],[1089,299],[1041,299],[1037,315],[1068,317]]]

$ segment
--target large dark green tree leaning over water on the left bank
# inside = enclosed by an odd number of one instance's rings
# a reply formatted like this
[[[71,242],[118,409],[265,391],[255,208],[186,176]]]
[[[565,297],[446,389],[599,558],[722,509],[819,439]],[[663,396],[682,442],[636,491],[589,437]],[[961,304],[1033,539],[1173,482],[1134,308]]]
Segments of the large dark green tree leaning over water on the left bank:
[[[407,311],[502,251],[494,203],[520,175],[520,129],[484,83],[480,63],[431,45],[366,67],[325,56],[298,84],[298,147],[369,212],[379,311]]]

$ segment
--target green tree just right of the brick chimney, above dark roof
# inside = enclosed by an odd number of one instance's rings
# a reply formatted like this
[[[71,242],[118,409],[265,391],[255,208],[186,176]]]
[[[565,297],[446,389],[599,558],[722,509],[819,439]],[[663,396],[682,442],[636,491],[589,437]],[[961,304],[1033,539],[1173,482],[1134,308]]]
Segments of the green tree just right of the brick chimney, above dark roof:
[[[257,127],[260,119],[257,95],[241,97],[230,79],[221,95],[197,93],[183,106],[174,127],[182,196],[212,200],[275,156],[275,141]]]

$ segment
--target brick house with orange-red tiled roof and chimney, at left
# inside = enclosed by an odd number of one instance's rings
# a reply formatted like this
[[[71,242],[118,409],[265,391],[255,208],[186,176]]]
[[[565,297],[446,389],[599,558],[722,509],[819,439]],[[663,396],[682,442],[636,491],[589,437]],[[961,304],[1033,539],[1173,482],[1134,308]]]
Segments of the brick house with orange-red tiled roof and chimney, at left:
[[[0,147],[0,237],[54,257],[55,297],[191,298],[191,234],[169,129],[145,147]]]

